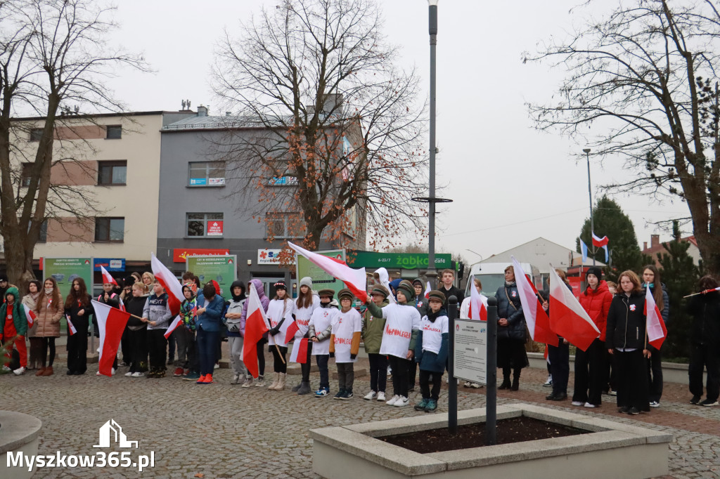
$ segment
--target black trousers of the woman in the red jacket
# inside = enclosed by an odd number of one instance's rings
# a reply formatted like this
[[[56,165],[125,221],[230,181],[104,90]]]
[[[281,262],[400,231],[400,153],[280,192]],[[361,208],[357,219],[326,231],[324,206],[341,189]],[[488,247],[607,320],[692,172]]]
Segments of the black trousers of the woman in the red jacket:
[[[587,351],[575,351],[575,392],[572,401],[600,406],[606,384],[605,342],[595,339]]]

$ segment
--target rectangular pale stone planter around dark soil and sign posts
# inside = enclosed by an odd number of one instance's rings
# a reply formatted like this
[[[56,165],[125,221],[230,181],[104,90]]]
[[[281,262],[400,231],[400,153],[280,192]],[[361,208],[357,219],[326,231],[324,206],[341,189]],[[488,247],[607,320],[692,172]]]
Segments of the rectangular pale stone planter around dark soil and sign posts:
[[[310,431],[312,470],[323,478],[649,478],[667,475],[672,434],[541,406],[498,406],[498,419],[527,416],[588,434],[419,454],[375,439],[447,426],[447,414]],[[485,421],[485,409],[458,411],[458,424]],[[581,472],[580,472],[581,471]]]

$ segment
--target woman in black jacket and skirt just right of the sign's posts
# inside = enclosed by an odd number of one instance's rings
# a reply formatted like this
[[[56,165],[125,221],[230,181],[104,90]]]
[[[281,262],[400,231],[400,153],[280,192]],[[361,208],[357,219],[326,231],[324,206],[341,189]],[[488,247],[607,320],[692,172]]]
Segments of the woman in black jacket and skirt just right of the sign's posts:
[[[503,383],[498,389],[518,391],[520,370],[529,363],[525,352],[525,315],[512,266],[505,268],[505,286],[498,288],[495,298],[498,298],[498,368],[503,369]],[[512,385],[510,369],[513,370]]]

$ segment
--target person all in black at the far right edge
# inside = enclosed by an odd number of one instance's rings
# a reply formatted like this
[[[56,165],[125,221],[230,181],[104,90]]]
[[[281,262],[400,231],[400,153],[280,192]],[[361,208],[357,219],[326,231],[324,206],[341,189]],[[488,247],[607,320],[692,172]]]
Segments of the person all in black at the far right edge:
[[[693,315],[690,332],[690,393],[691,404],[717,406],[720,396],[720,292],[712,291],[718,281],[703,276],[698,283],[699,291],[708,291],[690,298],[688,312]],[[703,366],[708,370],[707,396],[703,397]]]

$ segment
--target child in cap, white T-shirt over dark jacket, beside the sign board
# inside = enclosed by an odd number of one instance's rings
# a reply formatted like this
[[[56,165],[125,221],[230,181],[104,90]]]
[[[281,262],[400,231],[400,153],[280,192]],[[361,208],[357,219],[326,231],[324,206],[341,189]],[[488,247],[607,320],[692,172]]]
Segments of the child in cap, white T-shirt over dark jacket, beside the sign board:
[[[418,340],[415,342],[415,362],[420,365],[420,392],[423,399],[415,404],[415,411],[433,412],[438,409],[440,386],[448,358],[449,319],[443,309],[444,301],[442,291],[431,291],[428,295],[430,310],[420,320]],[[430,383],[433,383],[432,391]]]

